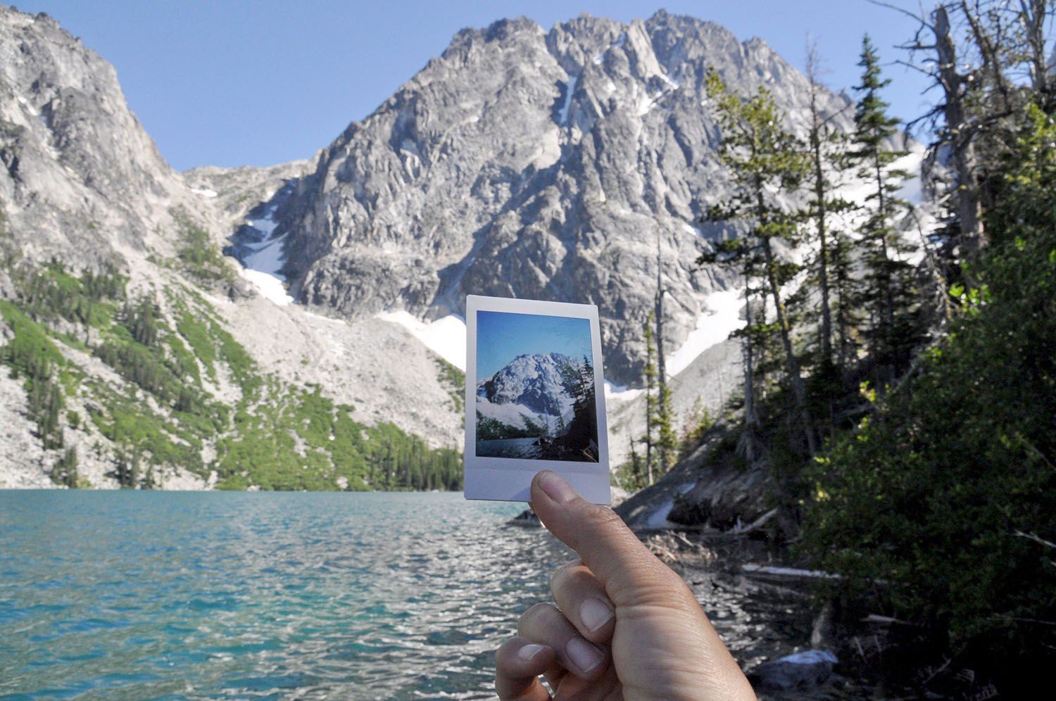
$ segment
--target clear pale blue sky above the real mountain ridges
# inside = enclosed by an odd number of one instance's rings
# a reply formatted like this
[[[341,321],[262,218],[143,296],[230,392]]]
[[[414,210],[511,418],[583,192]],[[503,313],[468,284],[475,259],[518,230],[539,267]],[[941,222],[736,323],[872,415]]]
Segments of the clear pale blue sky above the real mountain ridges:
[[[916,0],[895,0],[910,8]],[[912,22],[866,0],[22,0],[113,63],[132,110],[175,168],[310,157],[438,56],[465,26],[524,15],[545,29],[580,13],[620,21],[660,7],[762,37],[797,68],[807,34],[834,89],[857,81],[868,31],[882,58]],[[892,111],[912,118],[924,83],[890,65]]]

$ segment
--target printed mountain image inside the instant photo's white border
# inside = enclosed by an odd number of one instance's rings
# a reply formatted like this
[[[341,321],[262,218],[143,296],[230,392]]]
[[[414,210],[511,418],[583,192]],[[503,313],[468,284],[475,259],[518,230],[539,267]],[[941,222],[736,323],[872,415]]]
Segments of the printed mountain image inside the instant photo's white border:
[[[598,462],[590,321],[476,315],[477,457]]]

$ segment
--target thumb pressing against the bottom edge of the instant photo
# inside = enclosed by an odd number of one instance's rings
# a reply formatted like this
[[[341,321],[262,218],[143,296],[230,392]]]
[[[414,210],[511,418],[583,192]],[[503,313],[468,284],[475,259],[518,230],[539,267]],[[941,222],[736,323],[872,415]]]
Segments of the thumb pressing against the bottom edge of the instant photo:
[[[555,472],[544,470],[532,479],[531,507],[546,528],[579,554],[617,606],[685,589],[615,511],[590,504]]]

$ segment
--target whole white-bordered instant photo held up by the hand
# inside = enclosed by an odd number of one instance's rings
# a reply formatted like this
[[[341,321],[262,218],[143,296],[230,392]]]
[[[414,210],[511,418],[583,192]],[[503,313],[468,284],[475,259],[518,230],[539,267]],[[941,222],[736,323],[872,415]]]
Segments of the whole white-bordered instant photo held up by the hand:
[[[598,307],[466,298],[466,498],[527,501],[553,470],[608,504]]]

